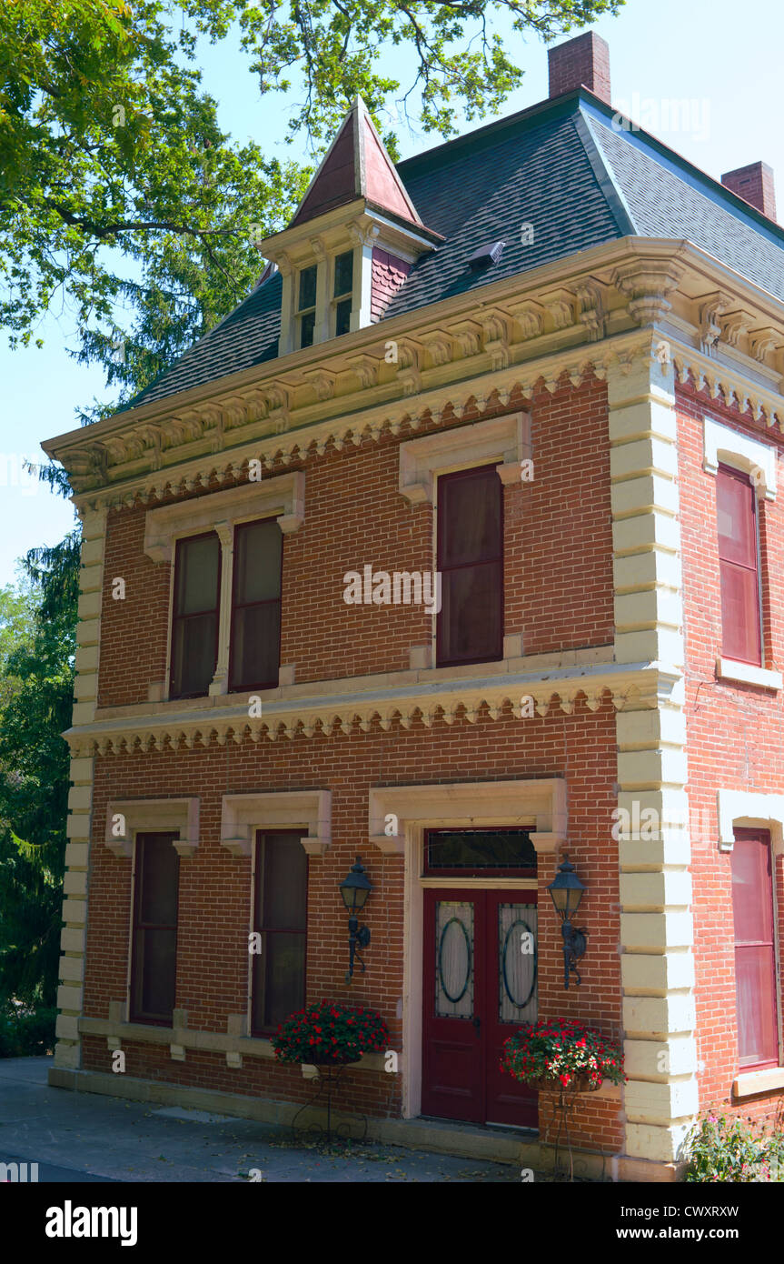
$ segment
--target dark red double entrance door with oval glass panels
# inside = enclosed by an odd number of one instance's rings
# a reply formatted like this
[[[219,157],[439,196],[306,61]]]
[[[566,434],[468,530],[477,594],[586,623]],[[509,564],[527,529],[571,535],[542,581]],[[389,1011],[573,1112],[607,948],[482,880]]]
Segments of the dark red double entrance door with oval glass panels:
[[[499,1069],[537,1018],[537,892],[427,889],[422,1114],[535,1127],[537,1093]]]

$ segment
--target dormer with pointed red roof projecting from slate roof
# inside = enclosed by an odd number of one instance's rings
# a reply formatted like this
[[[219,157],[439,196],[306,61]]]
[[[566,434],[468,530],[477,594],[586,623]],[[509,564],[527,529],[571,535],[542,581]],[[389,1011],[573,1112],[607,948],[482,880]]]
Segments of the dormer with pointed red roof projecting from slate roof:
[[[278,354],[380,320],[417,259],[442,240],[419,219],[357,96],[292,222],[259,245],[283,277]]]

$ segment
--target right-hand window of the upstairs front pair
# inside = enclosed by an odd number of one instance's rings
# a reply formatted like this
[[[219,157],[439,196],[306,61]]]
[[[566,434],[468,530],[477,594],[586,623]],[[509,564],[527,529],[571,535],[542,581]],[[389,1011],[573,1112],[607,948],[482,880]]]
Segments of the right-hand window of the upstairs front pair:
[[[235,528],[230,690],[278,684],[282,559],[283,533],[274,518]]]

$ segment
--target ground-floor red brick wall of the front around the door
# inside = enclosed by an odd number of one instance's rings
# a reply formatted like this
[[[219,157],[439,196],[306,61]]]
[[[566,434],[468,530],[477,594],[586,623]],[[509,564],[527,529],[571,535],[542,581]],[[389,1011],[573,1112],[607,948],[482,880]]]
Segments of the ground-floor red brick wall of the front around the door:
[[[587,877],[579,910],[588,930],[581,963],[582,986],[563,987],[561,930],[547,884],[555,857],[539,865],[539,1012],[571,1016],[620,1033],[620,967],[617,848],[609,829],[615,805],[615,712],[609,702],[597,710],[577,703],[574,713],[559,709],[547,717],[497,722],[481,717],[475,724],[414,723],[388,733],[379,727],[364,734],[298,737],[287,742],[250,741],[179,752],[106,756],[96,760],[96,822],[90,873],[90,925],[85,1014],[107,1018],[109,1002],[126,995],[130,928],[130,861],[116,860],[102,844],[100,823],[110,798],[201,795],[199,846],[181,862],[177,1006],[188,1011],[188,1026],[226,1031],[229,1014],[245,1011],[247,981],[247,919],[250,860],[237,860],[220,847],[221,795],[251,790],[332,790],[332,846],[309,861],[308,1001],[322,997],[377,1007],[385,1016],[391,1048],[400,1049],[398,1001],[403,996],[403,858],[384,856],[367,843],[367,793],[374,785],[404,785],[509,777],[568,777],[569,854]],[[356,854],[374,882],[365,920],[372,940],[367,972],[346,987],[347,925],[338,885]],[[125,1043],[124,1043],[125,1048]],[[187,1052],[173,1062],[168,1049],[128,1047],[126,1073],[194,1083],[227,1092],[304,1100],[308,1092],[299,1068],[245,1059],[241,1071],[226,1067],[221,1054]],[[109,1071],[105,1039],[85,1042],[85,1067]],[[399,1114],[399,1077],[347,1072],[347,1091],[369,1114]],[[592,1148],[621,1148],[619,1102],[586,1101],[572,1135]]]

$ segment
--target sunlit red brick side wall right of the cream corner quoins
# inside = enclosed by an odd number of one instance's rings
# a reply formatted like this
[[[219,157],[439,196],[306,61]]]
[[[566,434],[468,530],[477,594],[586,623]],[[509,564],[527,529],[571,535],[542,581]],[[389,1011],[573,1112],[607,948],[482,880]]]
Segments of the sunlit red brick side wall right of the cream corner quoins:
[[[752,685],[716,680],[721,653],[721,594],[716,528],[716,479],[702,468],[703,416],[781,450],[781,436],[726,408],[704,392],[677,396],[679,493],[686,622],[686,715],[688,794],[694,884],[694,958],[697,969],[699,1101],[704,1110],[730,1103],[737,1068],[735,949],[731,854],[717,847],[716,791],[720,787],[780,794],[784,699]],[[763,623],[765,665],[784,665],[784,501],[760,501]],[[784,868],[778,858],[774,882],[779,928],[784,933]],[[784,942],[780,948],[784,951]],[[731,1110],[770,1115],[779,1093],[744,1098]]]

